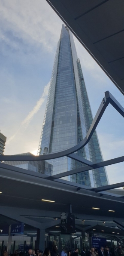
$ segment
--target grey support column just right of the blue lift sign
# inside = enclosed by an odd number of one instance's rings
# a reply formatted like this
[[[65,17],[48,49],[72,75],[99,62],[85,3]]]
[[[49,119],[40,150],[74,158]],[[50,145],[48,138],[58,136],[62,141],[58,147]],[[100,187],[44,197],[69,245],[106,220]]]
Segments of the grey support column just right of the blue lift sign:
[[[45,250],[45,229],[37,229],[36,248],[43,252]]]

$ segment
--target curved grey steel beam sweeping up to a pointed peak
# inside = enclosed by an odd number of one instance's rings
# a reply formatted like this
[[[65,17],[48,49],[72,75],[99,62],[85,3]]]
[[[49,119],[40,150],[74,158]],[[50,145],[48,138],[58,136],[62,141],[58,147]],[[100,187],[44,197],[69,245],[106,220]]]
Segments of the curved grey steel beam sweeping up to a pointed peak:
[[[90,129],[88,130],[88,133],[86,137],[76,146],[72,148],[68,148],[66,150],[46,154],[46,155],[40,155],[40,156],[24,156],[24,155],[4,155],[0,156],[0,161],[36,161],[36,160],[50,160],[54,158],[64,157],[68,156],[79,149],[83,148],[91,139],[91,136],[93,135],[98,123],[100,122],[101,117],[103,116],[104,111],[106,110],[106,107],[109,105],[109,103],[124,117],[124,108],[120,105],[120,103],[112,96],[109,91],[105,92],[105,97],[103,98],[100,107],[97,111],[97,114],[94,117],[94,120],[91,124]],[[70,155],[71,157],[71,155]],[[73,157],[72,157],[73,158]]]

